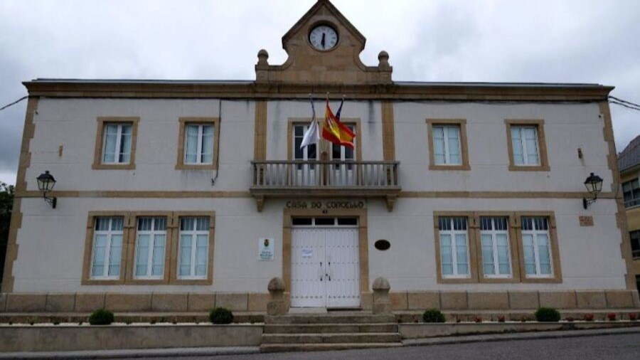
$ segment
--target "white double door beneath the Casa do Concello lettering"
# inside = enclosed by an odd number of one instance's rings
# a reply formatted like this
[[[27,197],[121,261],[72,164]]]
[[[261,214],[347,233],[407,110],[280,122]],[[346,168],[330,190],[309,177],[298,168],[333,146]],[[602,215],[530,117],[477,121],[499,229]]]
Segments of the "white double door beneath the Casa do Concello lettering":
[[[292,307],[360,307],[357,227],[292,229]]]

